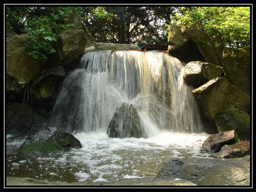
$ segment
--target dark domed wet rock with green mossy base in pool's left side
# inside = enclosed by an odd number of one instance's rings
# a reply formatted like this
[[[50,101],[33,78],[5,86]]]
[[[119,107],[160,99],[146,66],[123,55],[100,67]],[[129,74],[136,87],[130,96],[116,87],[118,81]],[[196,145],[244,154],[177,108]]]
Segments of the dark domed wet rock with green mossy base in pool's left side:
[[[82,145],[72,134],[56,127],[49,127],[27,137],[18,152],[45,153],[67,151],[70,148],[82,148]]]

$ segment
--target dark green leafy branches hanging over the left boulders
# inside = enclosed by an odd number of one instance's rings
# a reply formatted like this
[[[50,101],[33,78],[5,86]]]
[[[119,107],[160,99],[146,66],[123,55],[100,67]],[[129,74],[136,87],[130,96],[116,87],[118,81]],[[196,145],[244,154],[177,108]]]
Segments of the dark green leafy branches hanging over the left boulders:
[[[19,14],[20,11],[22,14]],[[19,34],[29,34],[30,41],[26,46],[31,52],[28,54],[35,59],[47,59],[49,54],[56,52],[52,42],[57,41],[59,34],[74,25],[64,24],[72,11],[78,12],[79,8],[6,7],[6,27]]]

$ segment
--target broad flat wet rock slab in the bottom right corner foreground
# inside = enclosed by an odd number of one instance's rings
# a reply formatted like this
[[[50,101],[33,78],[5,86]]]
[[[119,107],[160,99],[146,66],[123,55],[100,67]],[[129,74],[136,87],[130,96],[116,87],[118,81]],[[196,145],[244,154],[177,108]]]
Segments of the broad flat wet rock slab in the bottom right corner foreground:
[[[175,159],[167,162],[156,178],[180,178],[200,186],[248,186],[250,155],[227,159]]]

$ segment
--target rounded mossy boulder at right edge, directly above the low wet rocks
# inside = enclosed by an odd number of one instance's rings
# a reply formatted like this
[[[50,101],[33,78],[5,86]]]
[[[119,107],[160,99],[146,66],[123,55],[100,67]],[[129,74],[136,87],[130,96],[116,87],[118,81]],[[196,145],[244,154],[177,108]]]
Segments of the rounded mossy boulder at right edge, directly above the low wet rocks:
[[[218,132],[235,130],[238,139],[250,140],[250,116],[237,108],[221,110],[215,114]]]

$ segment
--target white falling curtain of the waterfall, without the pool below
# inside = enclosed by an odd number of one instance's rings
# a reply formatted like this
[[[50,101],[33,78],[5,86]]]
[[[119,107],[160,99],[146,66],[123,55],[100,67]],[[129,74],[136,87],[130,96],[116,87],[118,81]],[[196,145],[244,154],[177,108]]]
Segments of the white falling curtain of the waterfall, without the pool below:
[[[126,103],[136,108],[149,137],[162,130],[201,133],[182,69],[177,58],[164,52],[87,52],[63,82],[53,123],[70,133],[107,132],[113,114]]]

